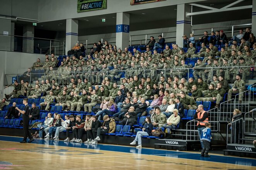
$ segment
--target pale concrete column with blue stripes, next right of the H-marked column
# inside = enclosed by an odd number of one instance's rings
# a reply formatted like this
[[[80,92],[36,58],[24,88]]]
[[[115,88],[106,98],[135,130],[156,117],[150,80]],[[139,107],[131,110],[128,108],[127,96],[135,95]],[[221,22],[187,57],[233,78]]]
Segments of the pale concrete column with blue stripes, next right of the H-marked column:
[[[186,4],[177,5],[177,22],[176,22],[176,44],[183,47],[183,35],[191,33],[191,19],[186,17],[186,12],[191,12],[191,6]]]

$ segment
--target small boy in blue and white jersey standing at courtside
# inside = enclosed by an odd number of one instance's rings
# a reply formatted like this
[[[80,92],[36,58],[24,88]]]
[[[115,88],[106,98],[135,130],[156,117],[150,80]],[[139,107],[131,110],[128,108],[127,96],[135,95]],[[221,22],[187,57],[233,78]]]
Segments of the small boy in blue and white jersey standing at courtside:
[[[209,149],[210,149],[210,142],[212,139],[212,133],[211,133],[211,124],[205,123],[205,127],[201,134],[201,140],[203,141],[203,149],[201,151],[201,157],[210,157],[208,155]]]

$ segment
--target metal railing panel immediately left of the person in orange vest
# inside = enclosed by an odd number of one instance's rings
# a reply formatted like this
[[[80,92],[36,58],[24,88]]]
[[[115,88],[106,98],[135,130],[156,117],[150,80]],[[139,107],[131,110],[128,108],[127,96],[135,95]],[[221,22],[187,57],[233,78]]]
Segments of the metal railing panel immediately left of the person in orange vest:
[[[190,120],[186,124],[186,140],[199,140],[197,130],[197,120]]]

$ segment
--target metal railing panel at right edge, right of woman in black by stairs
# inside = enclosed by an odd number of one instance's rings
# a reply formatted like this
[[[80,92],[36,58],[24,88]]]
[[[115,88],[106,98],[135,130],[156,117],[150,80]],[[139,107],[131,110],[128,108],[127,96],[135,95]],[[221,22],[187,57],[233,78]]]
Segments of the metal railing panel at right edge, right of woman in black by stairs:
[[[256,112],[244,114],[244,134],[246,133],[256,133]]]

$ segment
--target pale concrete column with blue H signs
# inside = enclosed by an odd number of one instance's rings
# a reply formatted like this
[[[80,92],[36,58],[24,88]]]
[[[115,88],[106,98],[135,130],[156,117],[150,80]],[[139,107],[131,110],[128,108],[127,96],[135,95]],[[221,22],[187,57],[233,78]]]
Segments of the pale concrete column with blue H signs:
[[[116,47],[124,50],[129,46],[130,14],[116,13]]]

